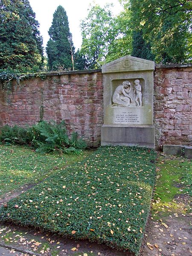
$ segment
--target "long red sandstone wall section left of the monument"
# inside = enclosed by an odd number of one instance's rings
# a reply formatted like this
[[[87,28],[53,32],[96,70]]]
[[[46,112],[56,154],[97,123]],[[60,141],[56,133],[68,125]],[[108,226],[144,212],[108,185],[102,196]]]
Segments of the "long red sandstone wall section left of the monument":
[[[25,125],[40,120],[65,120],[70,131],[77,131],[90,146],[97,146],[103,123],[101,72],[66,73],[32,78],[0,95],[1,124]]]

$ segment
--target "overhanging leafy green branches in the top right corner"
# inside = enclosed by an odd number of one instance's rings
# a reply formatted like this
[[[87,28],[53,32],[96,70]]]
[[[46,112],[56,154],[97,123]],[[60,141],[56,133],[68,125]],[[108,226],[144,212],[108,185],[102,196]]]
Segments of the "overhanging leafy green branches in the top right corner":
[[[188,0],[121,0],[125,13],[131,10],[133,31],[142,30],[151,44],[156,62],[191,61],[192,3]]]

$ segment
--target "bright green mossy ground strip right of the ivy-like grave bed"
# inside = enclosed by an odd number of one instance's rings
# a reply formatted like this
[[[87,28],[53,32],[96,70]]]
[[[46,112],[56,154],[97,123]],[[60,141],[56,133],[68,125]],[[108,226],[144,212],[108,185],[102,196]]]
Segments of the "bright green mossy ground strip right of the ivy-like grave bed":
[[[176,201],[176,196],[191,195],[192,164],[181,157],[160,155],[157,161],[157,180],[155,185],[152,215],[155,219],[171,213],[185,214],[186,205]]]

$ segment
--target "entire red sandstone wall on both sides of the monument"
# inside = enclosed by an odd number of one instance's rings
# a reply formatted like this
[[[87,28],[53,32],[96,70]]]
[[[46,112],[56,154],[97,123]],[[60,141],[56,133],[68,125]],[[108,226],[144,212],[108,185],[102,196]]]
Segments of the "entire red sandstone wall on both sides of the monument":
[[[65,120],[90,146],[101,139],[103,86],[100,70],[31,78],[0,91],[0,125]],[[191,145],[192,67],[158,67],[154,72],[156,144]]]

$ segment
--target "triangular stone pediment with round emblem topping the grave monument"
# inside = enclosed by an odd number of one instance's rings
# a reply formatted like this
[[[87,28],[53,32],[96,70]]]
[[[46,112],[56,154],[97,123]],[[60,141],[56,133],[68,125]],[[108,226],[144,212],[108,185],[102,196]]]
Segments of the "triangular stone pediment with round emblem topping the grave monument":
[[[154,61],[125,56],[102,66],[102,73],[154,70]]]

